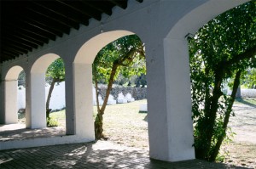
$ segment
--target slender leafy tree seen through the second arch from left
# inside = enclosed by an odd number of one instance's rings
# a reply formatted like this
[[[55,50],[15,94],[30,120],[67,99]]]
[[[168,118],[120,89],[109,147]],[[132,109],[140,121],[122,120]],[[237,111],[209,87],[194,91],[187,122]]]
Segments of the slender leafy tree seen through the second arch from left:
[[[65,81],[65,66],[61,58],[55,59],[55,61],[51,65],[49,65],[46,71],[46,77],[49,77],[49,79],[51,79],[51,81],[49,80],[50,87],[46,100],[46,118],[48,119],[47,124],[49,124],[49,112],[51,111],[49,109],[49,101],[55,87],[55,83]]]

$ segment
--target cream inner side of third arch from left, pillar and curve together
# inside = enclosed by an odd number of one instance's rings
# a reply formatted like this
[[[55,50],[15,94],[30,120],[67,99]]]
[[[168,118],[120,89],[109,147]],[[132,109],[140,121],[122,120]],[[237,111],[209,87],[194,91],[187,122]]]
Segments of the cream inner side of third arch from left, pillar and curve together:
[[[94,139],[92,103],[92,63],[96,54],[108,43],[133,34],[131,31],[109,31],[92,37],[79,49],[73,62],[74,111],[76,134]],[[83,92],[82,92],[83,91]]]

